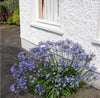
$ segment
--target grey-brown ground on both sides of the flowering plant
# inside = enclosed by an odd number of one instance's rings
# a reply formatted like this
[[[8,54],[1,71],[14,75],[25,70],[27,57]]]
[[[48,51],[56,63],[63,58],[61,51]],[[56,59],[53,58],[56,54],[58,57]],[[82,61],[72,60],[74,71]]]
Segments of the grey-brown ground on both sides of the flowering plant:
[[[11,81],[12,74],[10,68],[16,62],[17,54],[22,50],[20,28],[3,28],[0,31],[0,36],[0,96],[1,98],[15,98],[14,94],[9,90],[10,85],[13,83],[13,81]],[[30,97],[29,95],[21,96],[19,94],[17,94],[17,97],[39,98],[38,96]],[[67,98],[100,98],[100,91],[86,85],[76,94],[76,96]]]

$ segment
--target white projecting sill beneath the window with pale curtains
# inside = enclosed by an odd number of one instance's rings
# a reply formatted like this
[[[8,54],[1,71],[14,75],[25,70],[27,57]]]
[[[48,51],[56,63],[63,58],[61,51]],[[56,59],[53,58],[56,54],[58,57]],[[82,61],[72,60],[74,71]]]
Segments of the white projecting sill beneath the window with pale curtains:
[[[42,29],[48,32],[52,32],[52,33],[56,33],[59,35],[63,35],[63,31],[61,30],[61,26],[56,26],[56,25],[51,25],[51,24],[45,24],[45,23],[41,23],[41,22],[32,22],[30,24],[31,27],[35,27],[38,29]]]

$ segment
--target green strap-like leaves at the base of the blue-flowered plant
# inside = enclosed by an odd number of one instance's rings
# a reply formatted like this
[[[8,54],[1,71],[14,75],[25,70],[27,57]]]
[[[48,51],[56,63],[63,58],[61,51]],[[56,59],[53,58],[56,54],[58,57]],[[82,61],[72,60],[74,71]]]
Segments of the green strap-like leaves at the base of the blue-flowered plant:
[[[49,65],[50,66],[50,65]],[[46,79],[45,76],[49,73],[59,73],[62,74],[61,72],[57,72],[58,70],[52,71],[50,68],[42,68],[41,74],[44,77],[38,77],[37,76],[37,81],[35,81],[34,83],[28,83],[28,92],[31,93],[31,95],[37,95],[37,93],[35,92],[36,86],[39,84],[42,87],[44,87],[45,92],[40,94],[40,97],[44,98],[60,98],[60,96],[71,96],[74,95],[75,93],[77,93],[79,91],[79,89],[85,84],[84,81],[79,81],[79,87],[71,87],[70,83],[67,83],[65,87],[63,87],[60,90],[60,94],[57,95],[55,93],[55,90],[53,89],[53,87],[55,87],[55,85],[58,85],[59,83],[57,82],[51,82],[50,78]],[[45,73],[47,72],[47,73]],[[71,77],[75,77],[78,76],[79,73],[77,71],[75,71],[74,68],[72,68],[71,66],[69,66],[69,70],[67,72],[65,72],[60,78],[65,78],[65,76],[71,76]],[[52,75],[52,80],[55,81],[55,79],[59,80],[59,78],[55,77],[54,75]],[[46,85],[46,87],[45,87]]]

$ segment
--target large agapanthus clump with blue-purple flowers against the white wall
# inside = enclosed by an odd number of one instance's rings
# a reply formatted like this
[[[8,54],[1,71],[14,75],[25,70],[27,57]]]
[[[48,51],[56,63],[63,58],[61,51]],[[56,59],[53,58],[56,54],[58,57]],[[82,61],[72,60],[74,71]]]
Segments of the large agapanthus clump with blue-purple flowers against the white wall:
[[[43,98],[70,96],[94,79],[96,68],[90,66],[93,57],[68,39],[39,42],[29,53],[18,54],[19,62],[11,68],[16,82],[10,89],[24,89]]]

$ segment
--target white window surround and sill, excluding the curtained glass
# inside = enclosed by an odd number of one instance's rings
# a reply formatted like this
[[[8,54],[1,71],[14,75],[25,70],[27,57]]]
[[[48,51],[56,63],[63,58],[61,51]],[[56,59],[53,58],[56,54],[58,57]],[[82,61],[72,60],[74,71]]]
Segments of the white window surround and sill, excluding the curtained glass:
[[[60,2],[60,20],[59,20],[59,24],[54,23],[54,22],[50,22],[50,21],[46,21],[46,20],[42,20],[39,19],[39,0],[33,0],[33,3],[31,4],[31,7],[33,9],[32,11],[32,16],[31,16],[31,27],[35,27],[35,28],[39,28],[42,30],[46,30],[49,32],[54,32],[57,34],[63,34],[63,30],[62,30],[62,0],[59,0]],[[34,18],[34,19],[33,19]]]

